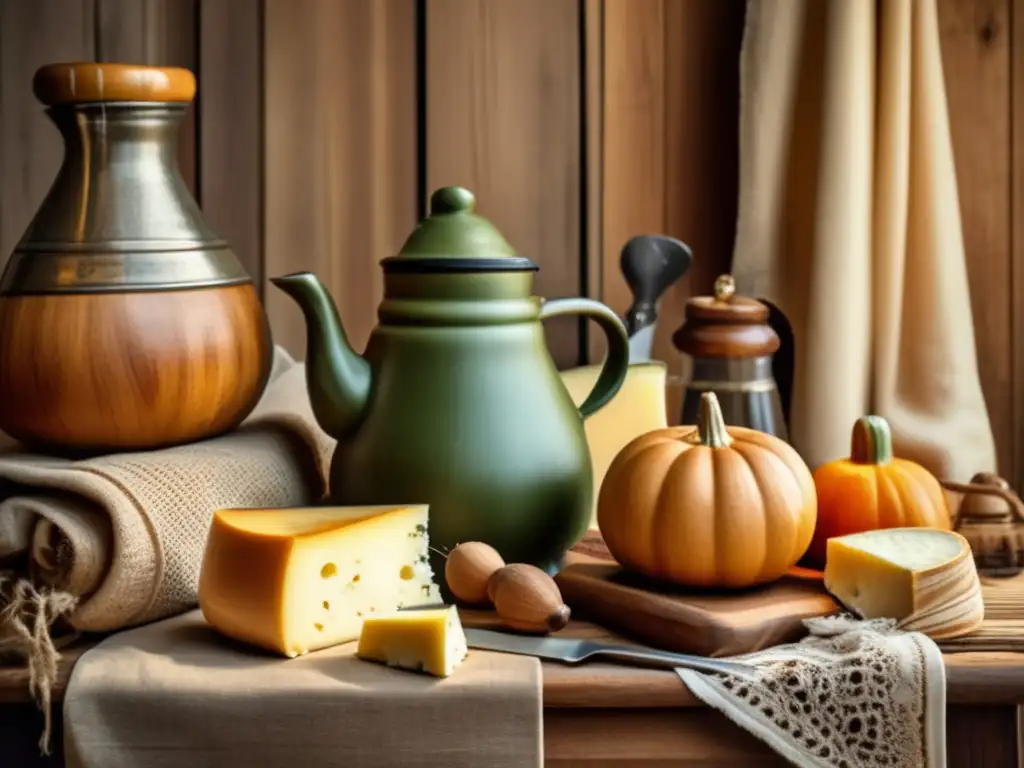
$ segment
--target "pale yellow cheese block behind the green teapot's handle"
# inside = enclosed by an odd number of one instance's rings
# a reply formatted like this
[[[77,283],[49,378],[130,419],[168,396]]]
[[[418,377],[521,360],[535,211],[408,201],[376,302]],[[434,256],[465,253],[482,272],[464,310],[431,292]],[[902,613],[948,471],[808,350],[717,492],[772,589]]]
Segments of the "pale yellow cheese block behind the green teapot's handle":
[[[626,444],[642,434],[668,426],[665,404],[664,362],[637,362],[629,367],[622,389],[611,401],[584,422],[590,459],[594,466],[594,508],[591,528],[597,528],[597,498],[612,460]],[[594,389],[600,366],[582,366],[561,372],[562,382],[577,406]]]

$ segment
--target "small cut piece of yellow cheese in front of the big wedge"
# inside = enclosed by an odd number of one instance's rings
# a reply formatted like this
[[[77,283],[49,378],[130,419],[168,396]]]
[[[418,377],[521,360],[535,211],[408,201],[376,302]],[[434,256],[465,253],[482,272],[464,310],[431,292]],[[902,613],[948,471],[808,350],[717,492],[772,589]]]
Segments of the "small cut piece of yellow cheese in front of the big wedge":
[[[447,677],[469,653],[454,605],[367,616],[355,655],[435,677]]]

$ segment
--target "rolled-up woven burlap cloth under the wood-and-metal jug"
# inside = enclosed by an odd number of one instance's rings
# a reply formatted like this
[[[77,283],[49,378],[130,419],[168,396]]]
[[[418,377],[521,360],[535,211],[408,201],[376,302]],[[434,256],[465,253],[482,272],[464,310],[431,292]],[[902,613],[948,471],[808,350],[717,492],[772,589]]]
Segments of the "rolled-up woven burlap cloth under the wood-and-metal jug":
[[[68,616],[77,630],[180,613],[196,604],[214,510],[317,501],[333,447],[312,417],[304,366],[278,348],[262,399],[229,434],[84,461],[0,453],[0,562],[77,598]]]

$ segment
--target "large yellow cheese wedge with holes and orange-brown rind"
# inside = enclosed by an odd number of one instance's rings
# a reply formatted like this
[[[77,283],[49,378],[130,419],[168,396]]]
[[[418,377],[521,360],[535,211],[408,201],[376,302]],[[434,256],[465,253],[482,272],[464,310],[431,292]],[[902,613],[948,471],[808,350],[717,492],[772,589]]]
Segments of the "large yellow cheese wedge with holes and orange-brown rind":
[[[355,640],[380,611],[440,602],[427,507],[225,509],[200,573],[203,615],[286,656]]]

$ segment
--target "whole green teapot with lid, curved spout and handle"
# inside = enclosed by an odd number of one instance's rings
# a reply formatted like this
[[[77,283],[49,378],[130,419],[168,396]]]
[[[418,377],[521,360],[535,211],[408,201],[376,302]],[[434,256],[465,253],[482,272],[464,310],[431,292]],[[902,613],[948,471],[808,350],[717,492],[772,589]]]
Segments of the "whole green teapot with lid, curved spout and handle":
[[[537,265],[474,202],[467,189],[438,189],[398,255],[381,261],[384,299],[364,356],[314,274],[271,282],[305,315],[309,398],[338,440],[331,502],[429,504],[435,573],[468,541],[554,572],[590,521],[583,421],[622,386],[629,342],[600,302],[532,296]],[[608,338],[579,410],[541,325],[566,314],[592,317]]]

